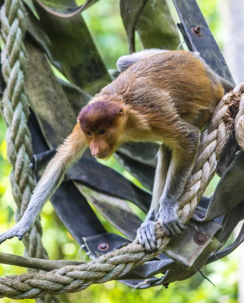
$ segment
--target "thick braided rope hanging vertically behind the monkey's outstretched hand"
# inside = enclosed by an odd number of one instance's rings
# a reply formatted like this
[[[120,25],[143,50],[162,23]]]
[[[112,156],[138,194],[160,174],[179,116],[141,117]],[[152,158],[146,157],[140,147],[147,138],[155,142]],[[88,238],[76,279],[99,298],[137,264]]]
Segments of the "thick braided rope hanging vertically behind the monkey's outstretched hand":
[[[12,165],[10,182],[15,203],[18,207],[17,221],[20,220],[34,188],[31,135],[27,127],[29,117],[28,97],[24,89],[26,51],[23,39],[26,32],[25,8],[20,0],[6,0],[1,8],[1,34],[5,47],[1,54],[2,73],[6,82],[3,94],[3,116],[8,126],[6,141],[8,159]],[[37,220],[34,227],[23,238],[25,254],[33,258],[47,259],[41,243],[41,226]],[[31,270],[33,271],[33,270]],[[50,295],[41,302],[57,302]]]

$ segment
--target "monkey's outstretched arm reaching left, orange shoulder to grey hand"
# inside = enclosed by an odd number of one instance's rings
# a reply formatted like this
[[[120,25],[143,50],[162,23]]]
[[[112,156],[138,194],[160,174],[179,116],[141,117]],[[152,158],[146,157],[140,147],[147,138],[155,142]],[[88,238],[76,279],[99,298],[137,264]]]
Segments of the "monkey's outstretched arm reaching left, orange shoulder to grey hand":
[[[46,200],[52,196],[62,182],[66,170],[83,155],[86,147],[79,124],[76,124],[72,133],[58,148],[55,157],[48,163],[23,217],[15,226],[0,236],[0,243],[15,236],[18,236],[19,240],[22,239],[23,235],[35,223]]]

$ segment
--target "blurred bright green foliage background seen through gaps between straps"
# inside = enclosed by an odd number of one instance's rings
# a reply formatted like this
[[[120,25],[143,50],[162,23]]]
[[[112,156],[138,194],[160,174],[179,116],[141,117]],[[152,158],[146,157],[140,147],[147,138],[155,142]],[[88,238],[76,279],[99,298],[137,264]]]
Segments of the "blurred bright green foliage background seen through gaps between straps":
[[[199,0],[197,1],[207,22],[220,47],[223,45],[221,31],[220,8],[221,0]],[[83,1],[77,1],[82,4]],[[87,26],[93,39],[104,59],[107,68],[116,68],[117,59],[128,54],[128,45],[125,30],[119,14],[118,0],[101,0],[97,4],[87,9],[83,14]],[[136,38],[136,49],[141,49],[140,42]],[[14,204],[9,183],[10,165],[7,161],[7,151],[5,142],[6,126],[0,118],[0,232],[6,231],[14,224]],[[112,160],[111,166],[116,166]],[[123,173],[119,166],[115,167]],[[126,175],[128,177],[128,175]],[[130,176],[129,176],[130,177]],[[206,194],[210,195],[216,184],[218,177],[215,177],[209,185]],[[109,231],[116,232],[101,216],[103,224]],[[43,243],[48,251],[50,259],[80,260],[79,245],[63,226],[58,216],[55,214],[51,203],[47,203],[42,211],[41,223],[43,227]],[[230,239],[231,240],[231,239]],[[1,244],[1,251],[10,254],[23,255],[24,247],[17,238]],[[117,302],[237,302],[237,264],[238,250],[230,256],[210,264],[204,268],[204,273],[216,285],[203,279],[200,274],[196,274],[191,279],[175,282],[169,285],[168,289],[157,286],[145,290],[132,290],[131,288],[111,281],[102,285],[92,285],[88,289],[76,293],[60,296],[62,302],[96,302],[96,303],[117,303]],[[24,268],[13,267],[0,264],[0,276],[16,275],[26,272]],[[16,300],[2,298],[1,302],[9,303]],[[22,302],[32,303],[34,300],[22,300]]]

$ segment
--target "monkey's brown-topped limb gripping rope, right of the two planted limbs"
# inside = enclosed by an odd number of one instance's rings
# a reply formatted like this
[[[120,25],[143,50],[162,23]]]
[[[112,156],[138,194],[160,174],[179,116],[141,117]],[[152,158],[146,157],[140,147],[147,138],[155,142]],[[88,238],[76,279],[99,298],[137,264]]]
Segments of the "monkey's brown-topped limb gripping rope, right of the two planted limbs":
[[[200,131],[184,123],[179,133],[177,145],[172,148],[172,160],[169,166],[163,194],[160,198],[160,209],[156,221],[162,225],[166,235],[180,234],[185,226],[177,215],[178,199],[184,192],[185,183],[191,173],[197,156]]]

